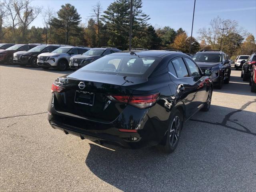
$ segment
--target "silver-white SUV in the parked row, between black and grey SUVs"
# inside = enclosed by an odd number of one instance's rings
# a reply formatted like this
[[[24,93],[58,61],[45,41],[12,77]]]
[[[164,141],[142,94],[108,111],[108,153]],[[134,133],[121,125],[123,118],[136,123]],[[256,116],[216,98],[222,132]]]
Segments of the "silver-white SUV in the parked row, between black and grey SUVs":
[[[60,71],[66,70],[70,57],[83,54],[90,48],[65,46],[54,50],[51,53],[42,53],[37,56],[37,64],[43,69],[50,67],[58,68]]]

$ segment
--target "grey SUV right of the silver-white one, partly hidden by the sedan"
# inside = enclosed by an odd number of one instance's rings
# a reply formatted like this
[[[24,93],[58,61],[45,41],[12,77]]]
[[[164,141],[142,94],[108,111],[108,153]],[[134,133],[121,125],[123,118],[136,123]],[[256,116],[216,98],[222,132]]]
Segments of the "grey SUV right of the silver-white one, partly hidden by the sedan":
[[[78,69],[98,58],[120,51],[121,50],[114,47],[92,48],[82,55],[72,56],[70,58],[69,66],[71,69]]]

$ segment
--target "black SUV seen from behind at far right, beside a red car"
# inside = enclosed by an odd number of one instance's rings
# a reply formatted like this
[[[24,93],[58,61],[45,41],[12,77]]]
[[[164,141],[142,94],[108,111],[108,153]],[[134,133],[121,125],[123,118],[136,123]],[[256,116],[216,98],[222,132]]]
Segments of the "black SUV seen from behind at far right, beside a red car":
[[[256,53],[251,54],[246,61],[242,60],[241,64],[243,64],[241,77],[243,78],[243,81],[248,81],[251,77],[252,65],[256,64]]]

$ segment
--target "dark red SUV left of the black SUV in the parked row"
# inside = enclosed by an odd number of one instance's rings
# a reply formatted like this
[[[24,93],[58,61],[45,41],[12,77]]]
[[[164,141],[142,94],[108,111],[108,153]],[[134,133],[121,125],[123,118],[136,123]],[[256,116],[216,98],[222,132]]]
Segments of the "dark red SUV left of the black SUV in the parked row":
[[[12,64],[13,54],[17,51],[28,51],[39,44],[16,44],[7,48],[6,50],[0,51],[0,63]]]

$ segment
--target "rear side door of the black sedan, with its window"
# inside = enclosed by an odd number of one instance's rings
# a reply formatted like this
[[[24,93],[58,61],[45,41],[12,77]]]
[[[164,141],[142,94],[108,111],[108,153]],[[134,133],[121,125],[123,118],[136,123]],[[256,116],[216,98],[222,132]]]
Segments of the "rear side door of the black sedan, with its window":
[[[186,118],[194,114],[198,107],[196,102],[197,84],[194,77],[189,76],[188,69],[182,57],[174,58],[168,63],[172,82],[177,86],[179,100],[185,105]]]

